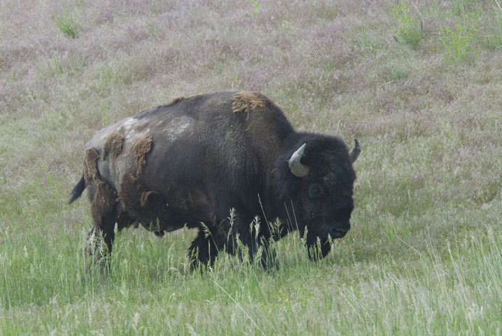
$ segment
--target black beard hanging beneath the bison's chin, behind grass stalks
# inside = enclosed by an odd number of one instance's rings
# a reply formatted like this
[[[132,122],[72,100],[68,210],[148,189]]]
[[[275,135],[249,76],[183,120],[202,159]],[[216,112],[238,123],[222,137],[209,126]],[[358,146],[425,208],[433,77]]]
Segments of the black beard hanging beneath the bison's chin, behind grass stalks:
[[[350,224],[333,221],[314,221],[312,225],[307,225],[307,241],[305,246],[311,260],[319,260],[331,250],[331,239],[342,238],[350,230]]]

